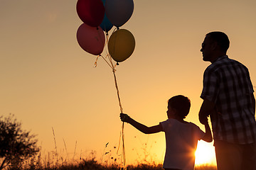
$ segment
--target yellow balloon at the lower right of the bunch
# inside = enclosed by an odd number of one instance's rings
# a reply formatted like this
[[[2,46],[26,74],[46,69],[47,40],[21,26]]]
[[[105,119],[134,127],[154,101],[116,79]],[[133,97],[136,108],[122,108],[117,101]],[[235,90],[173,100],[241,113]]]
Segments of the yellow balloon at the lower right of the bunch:
[[[117,30],[110,36],[107,47],[114,61],[123,62],[134,52],[134,35],[129,30]]]

